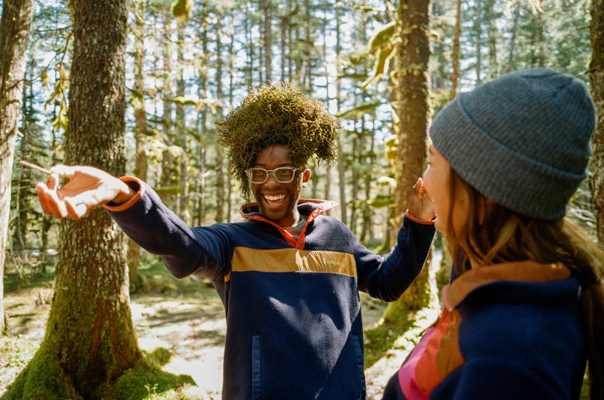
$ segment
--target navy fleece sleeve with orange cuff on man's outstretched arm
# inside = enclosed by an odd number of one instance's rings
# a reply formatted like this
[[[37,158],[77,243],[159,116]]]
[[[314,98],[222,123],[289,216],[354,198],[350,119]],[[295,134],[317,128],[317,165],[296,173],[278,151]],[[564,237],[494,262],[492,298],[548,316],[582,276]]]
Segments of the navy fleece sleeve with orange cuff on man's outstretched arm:
[[[191,229],[167,208],[143,181],[120,178],[137,195],[123,205],[105,205],[121,229],[147,252],[159,255],[176,278],[195,275],[222,279],[226,254],[231,252],[225,224]]]

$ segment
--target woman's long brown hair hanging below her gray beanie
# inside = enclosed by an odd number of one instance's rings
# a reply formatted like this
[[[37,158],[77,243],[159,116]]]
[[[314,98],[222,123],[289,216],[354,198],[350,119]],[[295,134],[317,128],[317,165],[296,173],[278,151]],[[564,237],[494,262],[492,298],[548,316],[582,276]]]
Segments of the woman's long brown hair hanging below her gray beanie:
[[[455,196],[466,189],[469,204],[464,226],[454,230]],[[541,221],[490,202],[451,169],[448,243],[455,273],[477,265],[506,261],[562,262],[582,287],[582,325],[587,344],[591,400],[604,398],[604,287],[600,278],[604,252],[588,233],[565,217]],[[461,255],[463,249],[463,255]]]

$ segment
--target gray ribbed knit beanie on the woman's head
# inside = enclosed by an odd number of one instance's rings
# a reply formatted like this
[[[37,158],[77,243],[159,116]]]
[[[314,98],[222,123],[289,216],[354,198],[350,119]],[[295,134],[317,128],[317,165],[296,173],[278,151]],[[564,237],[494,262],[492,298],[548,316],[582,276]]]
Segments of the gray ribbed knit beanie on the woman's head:
[[[587,177],[595,125],[582,81],[536,68],[459,94],[436,116],[430,136],[483,195],[528,217],[556,221]]]

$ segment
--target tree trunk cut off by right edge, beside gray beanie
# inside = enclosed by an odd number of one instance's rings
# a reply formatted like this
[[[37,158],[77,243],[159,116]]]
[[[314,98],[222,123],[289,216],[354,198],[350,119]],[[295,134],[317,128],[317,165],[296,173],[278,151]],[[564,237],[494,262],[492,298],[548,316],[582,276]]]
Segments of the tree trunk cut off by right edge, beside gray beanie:
[[[591,2],[591,95],[596,103],[596,131],[591,137],[591,197],[596,205],[598,241],[604,244],[604,2]]]

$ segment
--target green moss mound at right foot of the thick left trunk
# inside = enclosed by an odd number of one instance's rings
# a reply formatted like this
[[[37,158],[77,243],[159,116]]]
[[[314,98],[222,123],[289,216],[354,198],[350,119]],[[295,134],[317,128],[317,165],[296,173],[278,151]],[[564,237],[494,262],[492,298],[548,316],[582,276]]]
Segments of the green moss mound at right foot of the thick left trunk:
[[[149,390],[163,393],[185,384],[195,386],[195,381],[189,375],[174,375],[161,370],[161,366],[170,361],[171,357],[172,354],[166,349],[155,349],[120,376],[103,397],[115,400],[142,400],[149,397]]]

